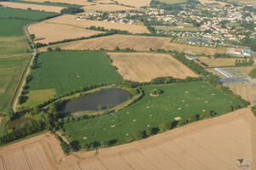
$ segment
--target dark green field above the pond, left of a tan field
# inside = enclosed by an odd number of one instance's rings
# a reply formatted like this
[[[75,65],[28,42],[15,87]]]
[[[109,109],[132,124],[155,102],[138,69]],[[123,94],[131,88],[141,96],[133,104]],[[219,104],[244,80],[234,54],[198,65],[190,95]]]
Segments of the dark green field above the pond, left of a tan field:
[[[32,70],[30,90],[55,88],[56,94],[100,82],[121,82],[122,78],[101,52],[61,51],[38,56],[37,69]]]

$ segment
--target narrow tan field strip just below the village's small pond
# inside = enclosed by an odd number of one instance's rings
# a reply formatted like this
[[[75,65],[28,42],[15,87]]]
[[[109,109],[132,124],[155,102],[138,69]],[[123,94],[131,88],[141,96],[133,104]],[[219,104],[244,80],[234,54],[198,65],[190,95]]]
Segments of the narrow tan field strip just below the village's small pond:
[[[214,54],[226,54],[226,48],[206,48],[206,47],[197,47],[197,46],[190,46],[181,43],[174,43],[169,42],[166,44],[167,50],[177,50],[178,52],[183,52],[187,54],[207,54],[207,55],[214,55]]]

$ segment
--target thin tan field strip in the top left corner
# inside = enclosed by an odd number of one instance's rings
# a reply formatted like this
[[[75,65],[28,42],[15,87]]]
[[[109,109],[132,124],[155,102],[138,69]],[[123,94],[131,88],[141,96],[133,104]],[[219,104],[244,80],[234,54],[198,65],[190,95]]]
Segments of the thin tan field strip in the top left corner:
[[[55,7],[55,6],[47,6],[47,5],[36,5],[36,4],[28,4],[28,3],[11,3],[11,2],[0,2],[0,5],[3,7],[9,8],[22,8],[27,9],[31,8],[32,10],[44,10],[45,12],[55,12],[61,13],[61,9],[63,7]]]

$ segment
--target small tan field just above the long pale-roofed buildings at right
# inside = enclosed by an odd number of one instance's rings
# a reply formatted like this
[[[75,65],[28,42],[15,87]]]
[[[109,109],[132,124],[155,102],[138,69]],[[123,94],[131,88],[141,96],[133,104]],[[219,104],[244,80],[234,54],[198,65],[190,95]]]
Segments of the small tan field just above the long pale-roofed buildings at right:
[[[236,59],[232,58],[208,58],[208,57],[200,57],[202,62],[206,63],[209,67],[218,67],[218,66],[233,66],[235,65]]]

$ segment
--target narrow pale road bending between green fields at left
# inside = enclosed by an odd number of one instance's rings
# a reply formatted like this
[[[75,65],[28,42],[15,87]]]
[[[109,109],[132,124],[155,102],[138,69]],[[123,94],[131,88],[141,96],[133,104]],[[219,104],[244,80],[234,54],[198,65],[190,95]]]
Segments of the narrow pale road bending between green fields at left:
[[[33,64],[33,60],[35,59],[35,56],[38,54],[38,50],[37,50],[37,48],[35,48],[34,43],[32,42],[32,39],[30,37],[30,34],[27,31],[27,26],[24,27],[24,31],[25,31],[27,40],[30,42],[31,47],[32,47],[32,59],[30,60],[29,64],[27,65],[28,68],[26,69],[26,73],[24,75],[24,78],[20,80],[21,81],[20,86],[19,86],[20,88],[18,89],[19,91],[18,91],[18,94],[15,96],[15,101],[14,101],[14,104],[13,104],[14,111],[16,111],[16,107],[17,107],[18,102],[19,102],[21,91],[22,91],[23,87],[26,85],[26,77],[30,73],[31,66]]]

